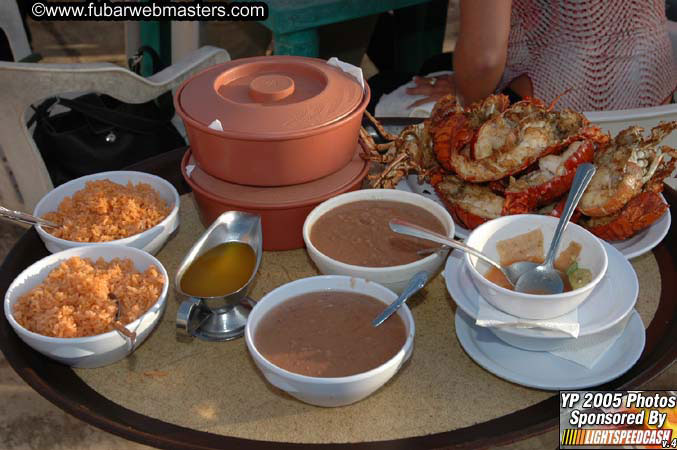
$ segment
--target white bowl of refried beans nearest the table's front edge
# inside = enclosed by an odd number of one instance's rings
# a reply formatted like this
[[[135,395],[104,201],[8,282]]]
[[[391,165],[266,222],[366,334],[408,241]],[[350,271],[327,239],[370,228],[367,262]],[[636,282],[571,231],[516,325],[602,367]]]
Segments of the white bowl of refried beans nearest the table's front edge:
[[[256,304],[247,348],[266,380],[289,395],[317,406],[349,405],[382,387],[411,356],[415,326],[407,305],[379,327],[371,324],[396,299],[361,278],[302,278]]]

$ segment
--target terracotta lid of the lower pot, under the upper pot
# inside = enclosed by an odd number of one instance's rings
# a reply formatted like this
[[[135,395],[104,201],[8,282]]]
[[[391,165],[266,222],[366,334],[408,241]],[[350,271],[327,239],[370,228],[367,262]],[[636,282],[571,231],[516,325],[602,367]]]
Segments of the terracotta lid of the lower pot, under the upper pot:
[[[224,203],[257,209],[286,209],[318,203],[331,197],[331,194],[362,179],[367,175],[369,162],[360,157],[358,146],[353,159],[343,169],[319,180],[291,186],[247,186],[229,183],[212,177],[197,165],[190,149],[181,161],[184,176],[208,194],[216,196]]]

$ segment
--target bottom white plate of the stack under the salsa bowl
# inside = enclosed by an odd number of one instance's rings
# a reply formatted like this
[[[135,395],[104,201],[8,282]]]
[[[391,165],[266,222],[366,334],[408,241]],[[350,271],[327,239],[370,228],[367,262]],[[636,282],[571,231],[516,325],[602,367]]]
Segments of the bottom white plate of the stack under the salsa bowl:
[[[633,311],[625,330],[592,369],[547,352],[511,347],[486,328],[476,327],[463,311],[456,311],[456,336],[477,364],[497,377],[522,386],[545,389],[585,389],[599,386],[627,372],[644,350],[644,324]]]

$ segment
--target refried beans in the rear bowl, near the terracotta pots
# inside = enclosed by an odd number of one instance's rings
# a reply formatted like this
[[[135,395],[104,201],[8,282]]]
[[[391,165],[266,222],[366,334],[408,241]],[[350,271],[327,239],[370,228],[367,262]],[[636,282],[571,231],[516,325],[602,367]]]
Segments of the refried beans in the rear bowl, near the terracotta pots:
[[[322,215],[310,230],[310,240],[328,257],[363,267],[409,264],[427,256],[417,254],[418,250],[439,245],[391,231],[388,222],[395,218],[446,235],[442,222],[421,207],[364,200],[338,206]]]

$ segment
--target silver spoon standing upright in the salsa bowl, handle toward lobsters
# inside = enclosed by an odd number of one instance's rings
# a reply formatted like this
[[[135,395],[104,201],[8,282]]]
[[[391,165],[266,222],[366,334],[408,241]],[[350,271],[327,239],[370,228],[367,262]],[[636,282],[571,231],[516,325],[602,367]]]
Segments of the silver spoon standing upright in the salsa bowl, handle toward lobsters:
[[[567,202],[564,205],[564,211],[559,218],[557,228],[555,228],[552,242],[550,242],[550,250],[548,250],[548,255],[545,257],[545,262],[540,265],[528,263],[533,267],[517,280],[515,285],[516,290],[545,295],[560,294],[564,291],[562,277],[553,267],[555,255],[557,254],[557,249],[562,240],[564,230],[566,230],[566,227],[569,224],[569,219],[571,219],[571,215],[574,213],[578,202],[583,196],[583,192],[585,192],[585,188],[588,187],[594,174],[595,166],[592,164],[585,163],[578,166],[576,175],[574,175],[574,182],[571,184],[571,189],[569,190]]]

